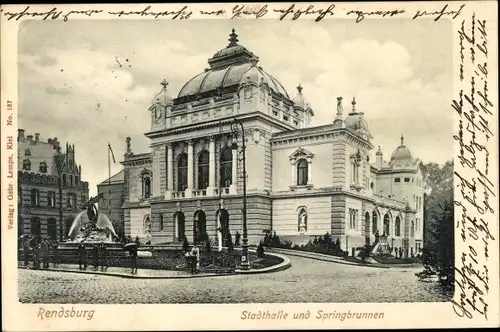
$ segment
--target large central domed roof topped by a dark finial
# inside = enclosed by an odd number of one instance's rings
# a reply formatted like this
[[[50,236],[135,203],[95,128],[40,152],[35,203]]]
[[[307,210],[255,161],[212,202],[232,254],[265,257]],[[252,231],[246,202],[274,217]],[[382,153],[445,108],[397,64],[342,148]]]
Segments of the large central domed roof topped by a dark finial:
[[[208,60],[210,69],[194,76],[179,91],[178,98],[197,95],[230,86],[238,86],[249,79],[256,84],[267,83],[271,90],[289,99],[283,85],[261,67],[258,58],[244,46],[237,44],[238,35],[234,29],[229,35],[229,45],[217,51]]]

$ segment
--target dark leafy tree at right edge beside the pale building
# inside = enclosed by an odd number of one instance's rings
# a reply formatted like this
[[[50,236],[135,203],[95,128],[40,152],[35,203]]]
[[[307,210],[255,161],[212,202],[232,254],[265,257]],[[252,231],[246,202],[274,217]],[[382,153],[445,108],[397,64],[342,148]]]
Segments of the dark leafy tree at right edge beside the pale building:
[[[425,196],[423,262],[448,285],[454,281],[453,161],[424,166],[431,192]]]

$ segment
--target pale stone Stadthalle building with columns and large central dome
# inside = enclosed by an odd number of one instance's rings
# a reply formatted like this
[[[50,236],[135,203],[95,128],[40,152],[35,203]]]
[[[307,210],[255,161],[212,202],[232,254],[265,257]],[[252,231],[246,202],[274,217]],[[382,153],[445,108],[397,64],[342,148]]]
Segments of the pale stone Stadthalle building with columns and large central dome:
[[[422,164],[403,137],[388,162],[380,148],[370,160],[375,147],[354,98],[349,111],[341,97],[332,100],[332,122],[310,126],[314,110],[302,87],[289,95],[237,37],[233,30],[227,47],[176,98],[162,82],[149,108],[150,152],[133,153],[127,139],[125,233],[153,244],[201,234],[215,240],[219,226],[242,233],[236,117],[246,139],[250,244],[272,229],[297,244],[328,232],[349,252],[377,233],[407,255],[422,248]]]

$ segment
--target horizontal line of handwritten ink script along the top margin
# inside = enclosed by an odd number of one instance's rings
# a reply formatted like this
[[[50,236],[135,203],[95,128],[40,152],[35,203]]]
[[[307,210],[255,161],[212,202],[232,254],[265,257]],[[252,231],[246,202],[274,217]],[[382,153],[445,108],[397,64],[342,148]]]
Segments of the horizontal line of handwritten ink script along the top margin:
[[[223,8],[215,8],[210,11],[200,10],[190,6],[182,6],[176,10],[154,10],[152,6],[146,6],[142,10],[134,11],[105,11],[102,9],[87,9],[87,10],[70,10],[64,11],[57,7],[53,7],[47,11],[37,11],[34,6],[26,6],[21,11],[8,11],[1,9],[3,16],[7,21],[19,21],[22,18],[38,18],[42,20],[58,20],[62,19],[67,22],[70,18],[78,18],[81,16],[98,17],[101,15],[112,15],[116,18],[121,17],[141,17],[141,18],[169,18],[172,20],[187,20],[190,18],[203,18],[207,16],[227,16],[230,19],[241,18],[254,18],[261,19],[269,15],[269,13],[278,14],[278,20],[297,20],[299,18],[311,18],[315,22],[320,22],[324,18],[333,17],[335,14],[345,14],[347,17],[353,17],[356,23],[361,23],[367,17],[377,18],[391,18],[406,13],[405,10],[392,8],[384,10],[363,11],[352,8],[338,9],[334,4],[322,5],[304,5],[304,4],[291,4],[288,7],[279,7],[280,5],[273,6],[270,4],[262,5],[236,5],[232,10],[226,11]],[[413,19],[419,18],[433,18],[438,21],[443,17],[456,19],[462,13],[465,5],[444,5],[438,10],[417,10],[413,15]],[[439,7],[438,7],[439,8]],[[335,12],[337,11],[337,13]]]

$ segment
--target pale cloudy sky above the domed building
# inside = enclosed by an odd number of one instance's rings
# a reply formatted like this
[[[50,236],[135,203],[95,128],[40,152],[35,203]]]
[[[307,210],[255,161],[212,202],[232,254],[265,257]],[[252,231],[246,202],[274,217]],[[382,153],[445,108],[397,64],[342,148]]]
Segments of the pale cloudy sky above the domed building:
[[[235,28],[239,43],[290,97],[300,83],[315,111],[332,123],[356,97],[384,159],[400,144],[424,163],[453,157],[451,23],[370,20],[70,20],[24,21],[19,29],[19,128],[75,145],[82,179],[107,178],[107,145],[123,160],[125,137],[148,152],[151,100],[208,67]],[[121,65],[121,66],[120,66]],[[63,146],[65,144],[63,143]],[[372,151],[374,154],[376,148]],[[112,173],[121,169],[112,165]]]

